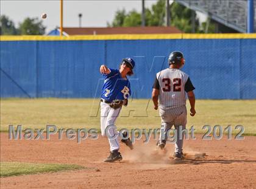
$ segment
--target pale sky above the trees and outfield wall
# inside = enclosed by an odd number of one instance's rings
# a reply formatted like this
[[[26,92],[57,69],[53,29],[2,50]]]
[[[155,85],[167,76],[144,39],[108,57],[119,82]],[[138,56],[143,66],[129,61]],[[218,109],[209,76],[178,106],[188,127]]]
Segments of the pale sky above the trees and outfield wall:
[[[156,0],[146,0],[145,7],[150,8]],[[172,1],[170,1],[171,3]],[[130,1],[63,1],[63,27],[79,27],[78,14],[82,13],[82,27],[106,27],[107,22],[112,22],[116,10],[125,9],[141,12],[141,0]],[[43,13],[46,19],[41,19]],[[23,1],[1,0],[1,15],[9,16],[15,22],[15,26],[25,18],[39,18],[46,26],[46,32],[60,26],[60,1]]]

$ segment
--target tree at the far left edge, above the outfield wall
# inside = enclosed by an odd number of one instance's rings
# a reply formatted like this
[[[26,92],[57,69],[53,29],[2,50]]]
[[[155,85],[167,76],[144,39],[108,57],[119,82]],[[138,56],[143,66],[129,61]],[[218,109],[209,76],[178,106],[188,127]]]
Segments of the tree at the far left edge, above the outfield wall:
[[[18,35],[18,30],[8,16],[2,15],[0,22],[0,33],[1,35]]]

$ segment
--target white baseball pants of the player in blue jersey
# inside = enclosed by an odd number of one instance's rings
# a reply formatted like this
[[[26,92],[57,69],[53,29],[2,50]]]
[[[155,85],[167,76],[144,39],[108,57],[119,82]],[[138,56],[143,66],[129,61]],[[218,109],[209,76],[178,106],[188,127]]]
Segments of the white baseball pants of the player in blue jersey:
[[[113,109],[107,103],[101,102],[101,134],[108,137],[110,151],[119,149],[119,137],[115,122],[121,108]],[[107,132],[107,133],[106,133]]]

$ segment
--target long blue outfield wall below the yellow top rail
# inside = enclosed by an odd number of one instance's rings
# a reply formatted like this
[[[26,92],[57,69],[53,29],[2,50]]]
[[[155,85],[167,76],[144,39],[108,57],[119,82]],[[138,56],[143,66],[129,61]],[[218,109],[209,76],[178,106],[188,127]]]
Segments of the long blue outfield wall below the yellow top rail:
[[[150,98],[173,50],[185,55],[197,98],[256,98],[256,39],[1,41],[1,97],[99,97],[99,66],[136,62],[134,98]]]

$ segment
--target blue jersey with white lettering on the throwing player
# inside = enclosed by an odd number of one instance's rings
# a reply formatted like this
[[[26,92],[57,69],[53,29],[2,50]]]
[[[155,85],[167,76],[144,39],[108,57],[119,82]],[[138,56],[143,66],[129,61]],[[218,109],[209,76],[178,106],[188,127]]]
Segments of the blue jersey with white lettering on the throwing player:
[[[103,74],[104,84],[102,87],[101,98],[113,101],[124,100],[131,94],[130,82],[127,78],[122,78],[119,70],[110,69],[109,74]]]

